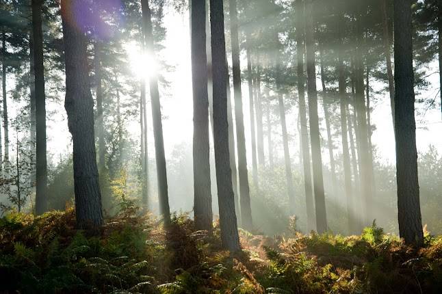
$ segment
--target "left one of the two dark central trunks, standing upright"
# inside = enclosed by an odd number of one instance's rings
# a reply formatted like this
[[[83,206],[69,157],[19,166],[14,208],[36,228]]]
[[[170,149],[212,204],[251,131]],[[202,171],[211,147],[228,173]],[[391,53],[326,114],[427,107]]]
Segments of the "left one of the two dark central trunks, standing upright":
[[[192,89],[194,96],[194,215],[196,230],[212,229],[207,94],[206,3],[192,0]]]

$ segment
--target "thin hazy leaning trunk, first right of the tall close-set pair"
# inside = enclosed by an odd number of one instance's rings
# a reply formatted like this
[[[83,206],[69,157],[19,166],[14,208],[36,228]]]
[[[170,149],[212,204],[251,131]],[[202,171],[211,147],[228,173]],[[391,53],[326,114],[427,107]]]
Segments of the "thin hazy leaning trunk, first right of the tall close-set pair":
[[[321,70],[321,84],[322,84],[322,107],[324,109],[324,117],[326,120],[327,142],[328,142],[328,157],[330,158],[330,174],[332,177],[333,196],[337,197],[337,180],[335,168],[335,156],[333,155],[333,137],[330,126],[330,112],[328,111],[328,97],[326,90],[325,74],[324,74],[324,60],[323,51],[320,51],[320,70]]]

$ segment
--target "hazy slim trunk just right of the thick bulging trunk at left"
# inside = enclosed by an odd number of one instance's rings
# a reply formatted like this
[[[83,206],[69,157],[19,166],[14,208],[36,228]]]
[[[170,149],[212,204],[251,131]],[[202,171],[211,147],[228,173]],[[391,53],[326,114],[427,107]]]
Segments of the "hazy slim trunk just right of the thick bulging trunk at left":
[[[94,43],[96,83],[96,135],[99,139],[99,171],[105,168],[105,129],[103,125],[103,87],[101,84],[101,44]]]

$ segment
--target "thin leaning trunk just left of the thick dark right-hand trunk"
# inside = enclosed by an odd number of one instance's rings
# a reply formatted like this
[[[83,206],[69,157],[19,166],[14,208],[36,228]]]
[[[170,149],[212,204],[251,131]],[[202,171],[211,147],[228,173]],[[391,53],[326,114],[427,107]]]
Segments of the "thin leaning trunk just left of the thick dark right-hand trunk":
[[[393,66],[391,64],[391,46],[390,46],[390,34],[388,25],[388,14],[387,14],[387,0],[380,0],[380,8],[382,10],[382,41],[384,43],[384,54],[385,60],[387,62],[387,77],[389,85],[390,94],[390,107],[391,107],[391,118],[393,120],[394,129],[394,77],[393,77]]]

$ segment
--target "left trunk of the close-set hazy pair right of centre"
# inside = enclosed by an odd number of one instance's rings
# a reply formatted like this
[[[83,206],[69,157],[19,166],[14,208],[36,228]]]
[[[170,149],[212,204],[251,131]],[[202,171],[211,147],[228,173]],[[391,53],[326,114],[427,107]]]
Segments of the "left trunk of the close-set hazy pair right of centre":
[[[304,75],[304,2],[296,0],[296,59],[298,75],[298,105],[300,116],[300,141],[302,150],[302,168],[304,170],[304,191],[307,207],[307,231],[315,230],[315,208],[311,185],[309,130],[307,129],[307,111],[305,105]]]

